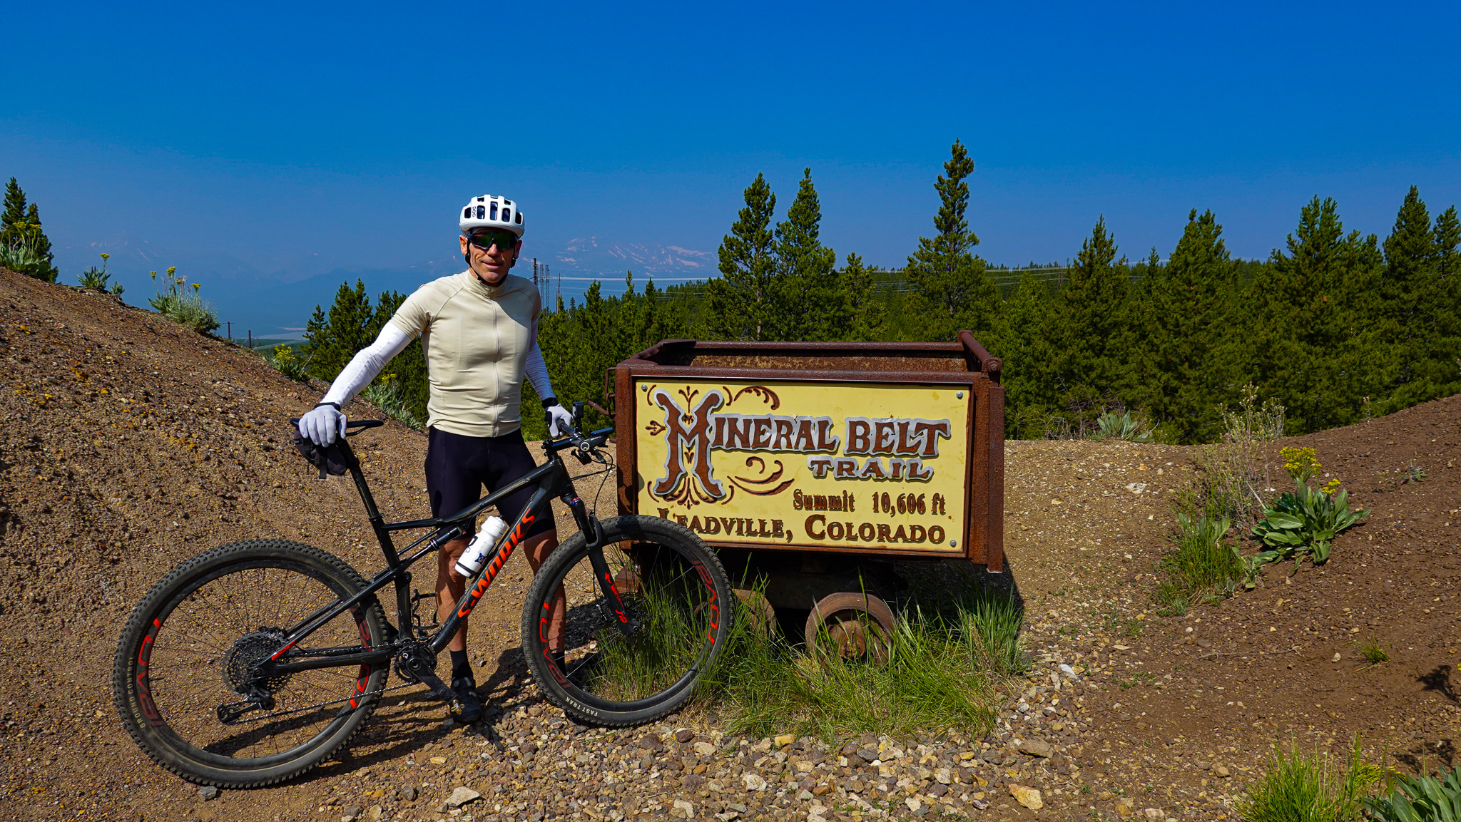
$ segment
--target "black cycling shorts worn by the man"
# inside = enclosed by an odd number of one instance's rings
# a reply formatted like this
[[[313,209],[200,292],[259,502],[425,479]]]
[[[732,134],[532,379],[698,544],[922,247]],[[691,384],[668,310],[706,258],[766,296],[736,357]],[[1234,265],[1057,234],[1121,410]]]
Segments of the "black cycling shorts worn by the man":
[[[463,437],[430,428],[427,495],[431,498],[431,515],[450,517],[481,499],[484,485],[487,492],[492,493],[535,467],[538,463],[527,453],[522,431],[501,437]],[[536,489],[529,485],[497,502],[497,510],[508,527],[517,521]],[[538,536],[557,527],[552,505],[543,505],[542,515],[529,526],[526,536]]]

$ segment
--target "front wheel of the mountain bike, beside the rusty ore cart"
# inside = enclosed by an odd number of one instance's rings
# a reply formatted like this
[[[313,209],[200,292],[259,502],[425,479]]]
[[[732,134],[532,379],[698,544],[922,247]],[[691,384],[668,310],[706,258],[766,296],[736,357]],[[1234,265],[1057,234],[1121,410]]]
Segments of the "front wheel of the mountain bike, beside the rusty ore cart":
[[[602,565],[579,533],[538,569],[523,651],[548,699],[579,721],[647,723],[690,699],[716,666],[736,599],[690,529],[641,515],[602,527]]]

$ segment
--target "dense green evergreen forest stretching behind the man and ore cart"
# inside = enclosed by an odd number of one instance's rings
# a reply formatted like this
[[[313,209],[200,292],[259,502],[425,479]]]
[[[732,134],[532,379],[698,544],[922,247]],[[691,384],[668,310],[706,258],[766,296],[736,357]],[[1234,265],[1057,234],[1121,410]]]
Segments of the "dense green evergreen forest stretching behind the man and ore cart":
[[[973,159],[953,145],[934,187],[932,231],[899,270],[821,244],[808,169],[777,220],[763,175],[745,188],[719,248],[720,276],[659,289],[624,277],[545,310],[539,345],[561,400],[605,403],[605,369],[668,337],[722,340],[953,340],[969,329],[1004,361],[1007,435],[1090,432],[1131,412],[1169,442],[1213,442],[1245,400],[1286,409],[1306,434],[1461,390],[1461,219],[1432,218],[1410,188],[1385,239],[1346,231],[1315,197],[1267,260],[1235,260],[1213,212],[1194,209],[1176,247],[1132,260],[1099,219],[1065,266],[995,267],[966,220]],[[403,295],[340,286],[316,308],[308,371],[333,380]],[[419,342],[389,366],[425,418]],[[524,388],[524,435],[543,435]],[[595,419],[593,422],[602,422]]]

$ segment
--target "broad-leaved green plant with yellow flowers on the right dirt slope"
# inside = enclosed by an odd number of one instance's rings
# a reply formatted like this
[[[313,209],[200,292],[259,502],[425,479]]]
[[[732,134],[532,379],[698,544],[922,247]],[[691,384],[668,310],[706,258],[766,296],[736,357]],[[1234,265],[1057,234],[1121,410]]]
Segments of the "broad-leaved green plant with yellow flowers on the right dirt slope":
[[[1284,448],[1280,456],[1294,489],[1275,499],[1254,526],[1254,539],[1267,546],[1256,558],[1261,562],[1290,558],[1297,562],[1308,555],[1315,565],[1324,565],[1330,559],[1334,536],[1367,517],[1369,510],[1350,511],[1350,492],[1340,491],[1338,479],[1324,488],[1309,486],[1322,467],[1313,458],[1313,448]]]

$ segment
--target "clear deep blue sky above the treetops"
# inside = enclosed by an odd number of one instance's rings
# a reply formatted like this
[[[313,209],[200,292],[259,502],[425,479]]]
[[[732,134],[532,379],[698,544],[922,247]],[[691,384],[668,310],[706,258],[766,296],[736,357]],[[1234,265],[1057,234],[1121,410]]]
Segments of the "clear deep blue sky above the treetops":
[[[527,254],[618,283],[615,247],[712,273],[755,174],[785,210],[811,166],[824,242],[897,266],[955,137],[993,263],[1065,260],[1100,215],[1166,256],[1191,207],[1265,257],[1315,194],[1382,237],[1411,184],[1461,203],[1458,9],[10,4],[0,175],[63,282],[111,250],[142,302],[177,264],[256,334],[346,276],[454,270],[481,193],[523,204]]]

